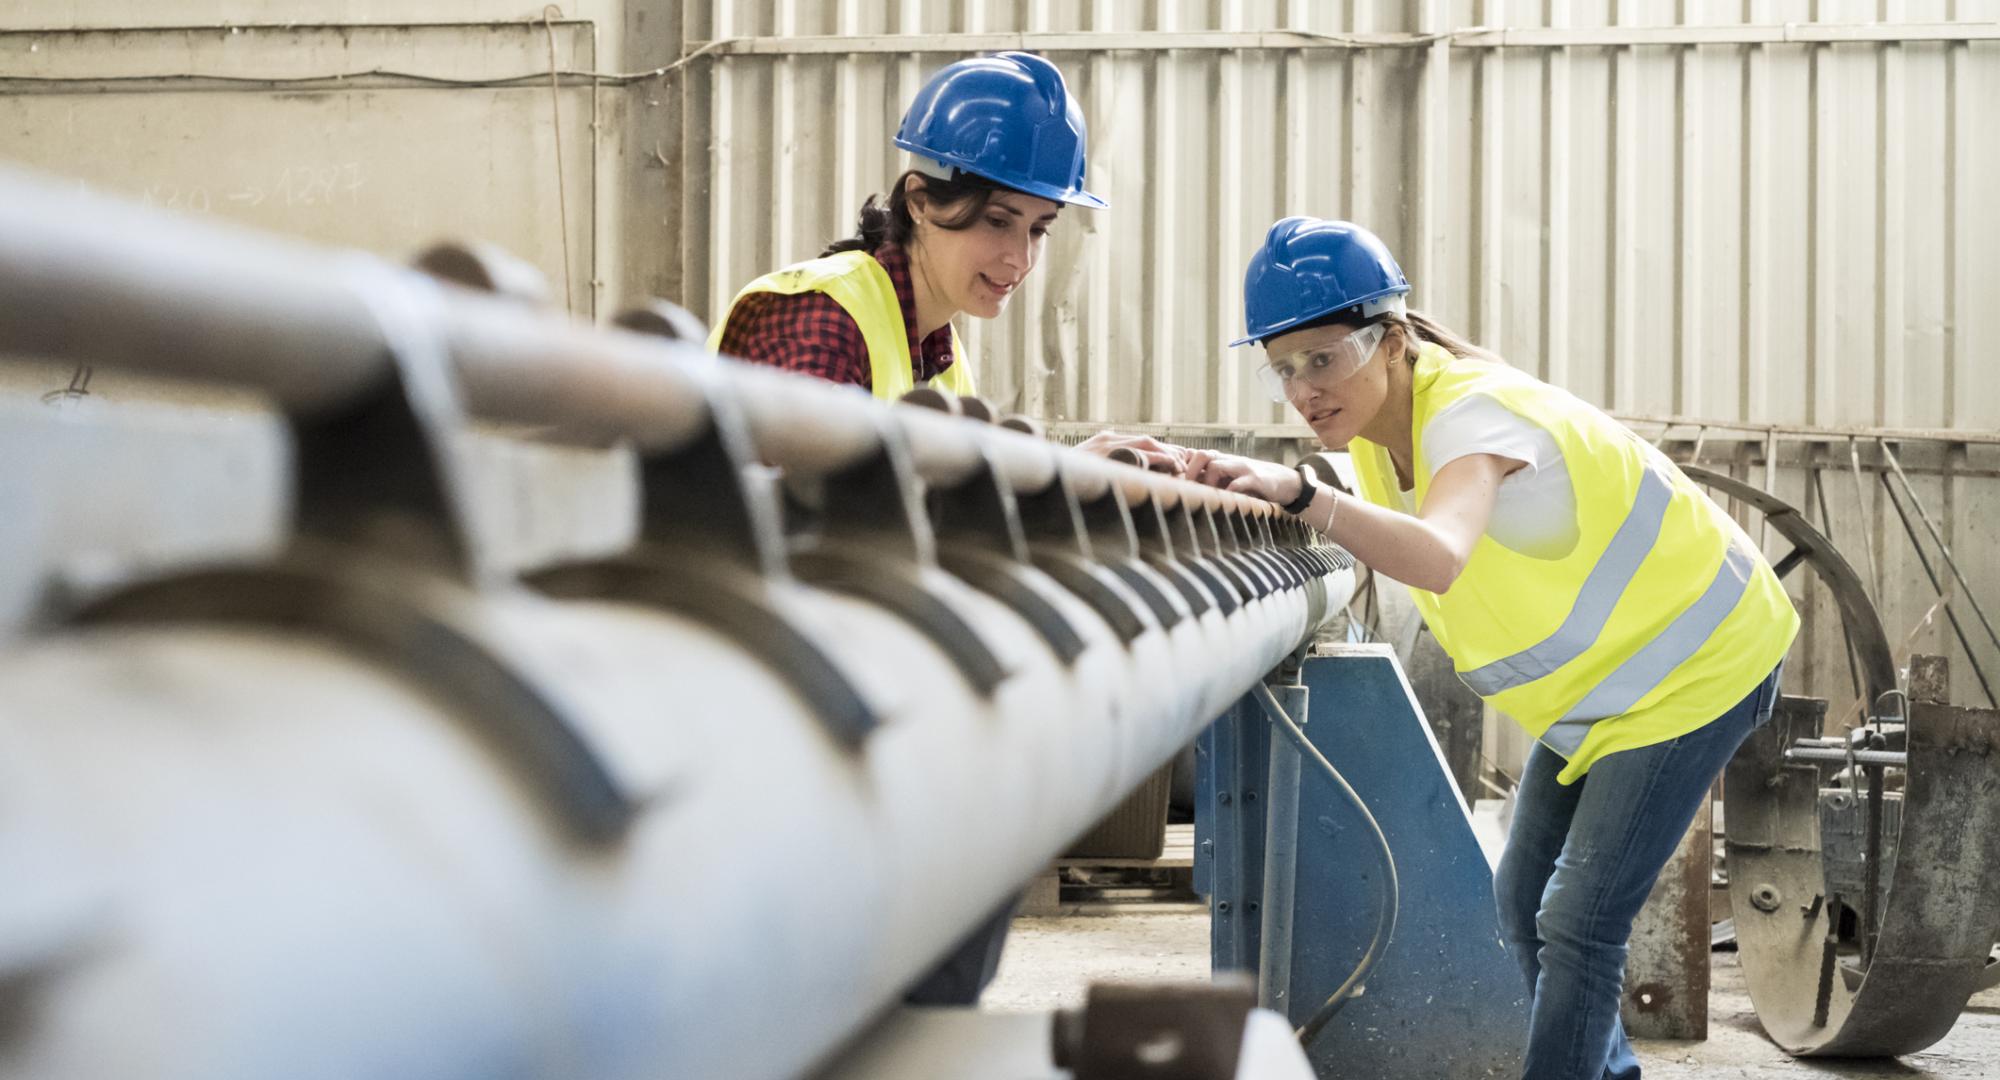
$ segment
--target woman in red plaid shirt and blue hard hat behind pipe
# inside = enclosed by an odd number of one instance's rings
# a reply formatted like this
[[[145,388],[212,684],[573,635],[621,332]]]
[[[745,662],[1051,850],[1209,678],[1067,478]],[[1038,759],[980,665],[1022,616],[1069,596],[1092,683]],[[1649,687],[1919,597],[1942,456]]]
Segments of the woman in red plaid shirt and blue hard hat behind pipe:
[[[856,236],[744,286],[710,348],[884,400],[974,392],[952,318],[996,318],[1062,206],[1104,206],[1082,186],[1082,110],[1048,60],[980,56],[924,84],[896,146],[910,168]]]

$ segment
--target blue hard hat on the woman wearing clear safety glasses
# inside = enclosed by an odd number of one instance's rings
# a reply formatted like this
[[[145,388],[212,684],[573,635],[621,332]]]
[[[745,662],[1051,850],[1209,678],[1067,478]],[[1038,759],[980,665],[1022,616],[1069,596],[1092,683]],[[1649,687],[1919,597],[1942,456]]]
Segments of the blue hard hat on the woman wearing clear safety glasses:
[[[1282,218],[1244,270],[1244,324],[1232,346],[1264,342],[1344,308],[1362,318],[1402,310],[1410,280],[1388,244],[1354,222]]]

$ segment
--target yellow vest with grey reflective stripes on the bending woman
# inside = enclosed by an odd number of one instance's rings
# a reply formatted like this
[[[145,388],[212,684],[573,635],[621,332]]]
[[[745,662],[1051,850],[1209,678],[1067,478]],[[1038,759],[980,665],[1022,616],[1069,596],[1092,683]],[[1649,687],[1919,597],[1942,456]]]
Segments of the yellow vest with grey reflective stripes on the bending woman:
[[[1708,724],[1778,666],[1798,612],[1756,542],[1664,454],[1566,390],[1424,344],[1412,372],[1416,506],[1430,488],[1424,424],[1468,394],[1554,436],[1580,536],[1562,558],[1480,536],[1450,590],[1410,594],[1458,678],[1568,760],[1560,782]],[[1400,510],[1388,450],[1362,438],[1350,450],[1360,494]]]

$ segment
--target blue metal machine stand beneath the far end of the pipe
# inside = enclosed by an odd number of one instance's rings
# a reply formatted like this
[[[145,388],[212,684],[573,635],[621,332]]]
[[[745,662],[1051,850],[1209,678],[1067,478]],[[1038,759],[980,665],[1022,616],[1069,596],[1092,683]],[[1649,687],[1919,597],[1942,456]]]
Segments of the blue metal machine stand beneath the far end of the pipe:
[[[1376,816],[1402,886],[1396,934],[1308,1046],[1322,1078],[1516,1076],[1528,1032],[1500,944],[1492,872],[1466,802],[1386,646],[1312,656],[1274,686],[1306,738]],[[1246,696],[1196,742],[1194,888],[1216,970],[1258,976],[1260,1004],[1304,1024],[1374,936],[1382,852],[1366,820]]]

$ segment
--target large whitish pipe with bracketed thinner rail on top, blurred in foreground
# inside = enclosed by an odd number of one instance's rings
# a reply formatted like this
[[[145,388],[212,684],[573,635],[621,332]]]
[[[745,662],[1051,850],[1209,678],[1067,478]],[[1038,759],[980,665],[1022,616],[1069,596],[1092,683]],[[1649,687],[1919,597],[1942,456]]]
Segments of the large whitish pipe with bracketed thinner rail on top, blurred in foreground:
[[[0,354],[258,388],[298,466],[276,558],[0,644],[0,1074],[796,1076],[1352,590],[1266,504],[362,256],[14,178],[0,236]],[[636,542],[498,568],[474,416],[632,446]]]

